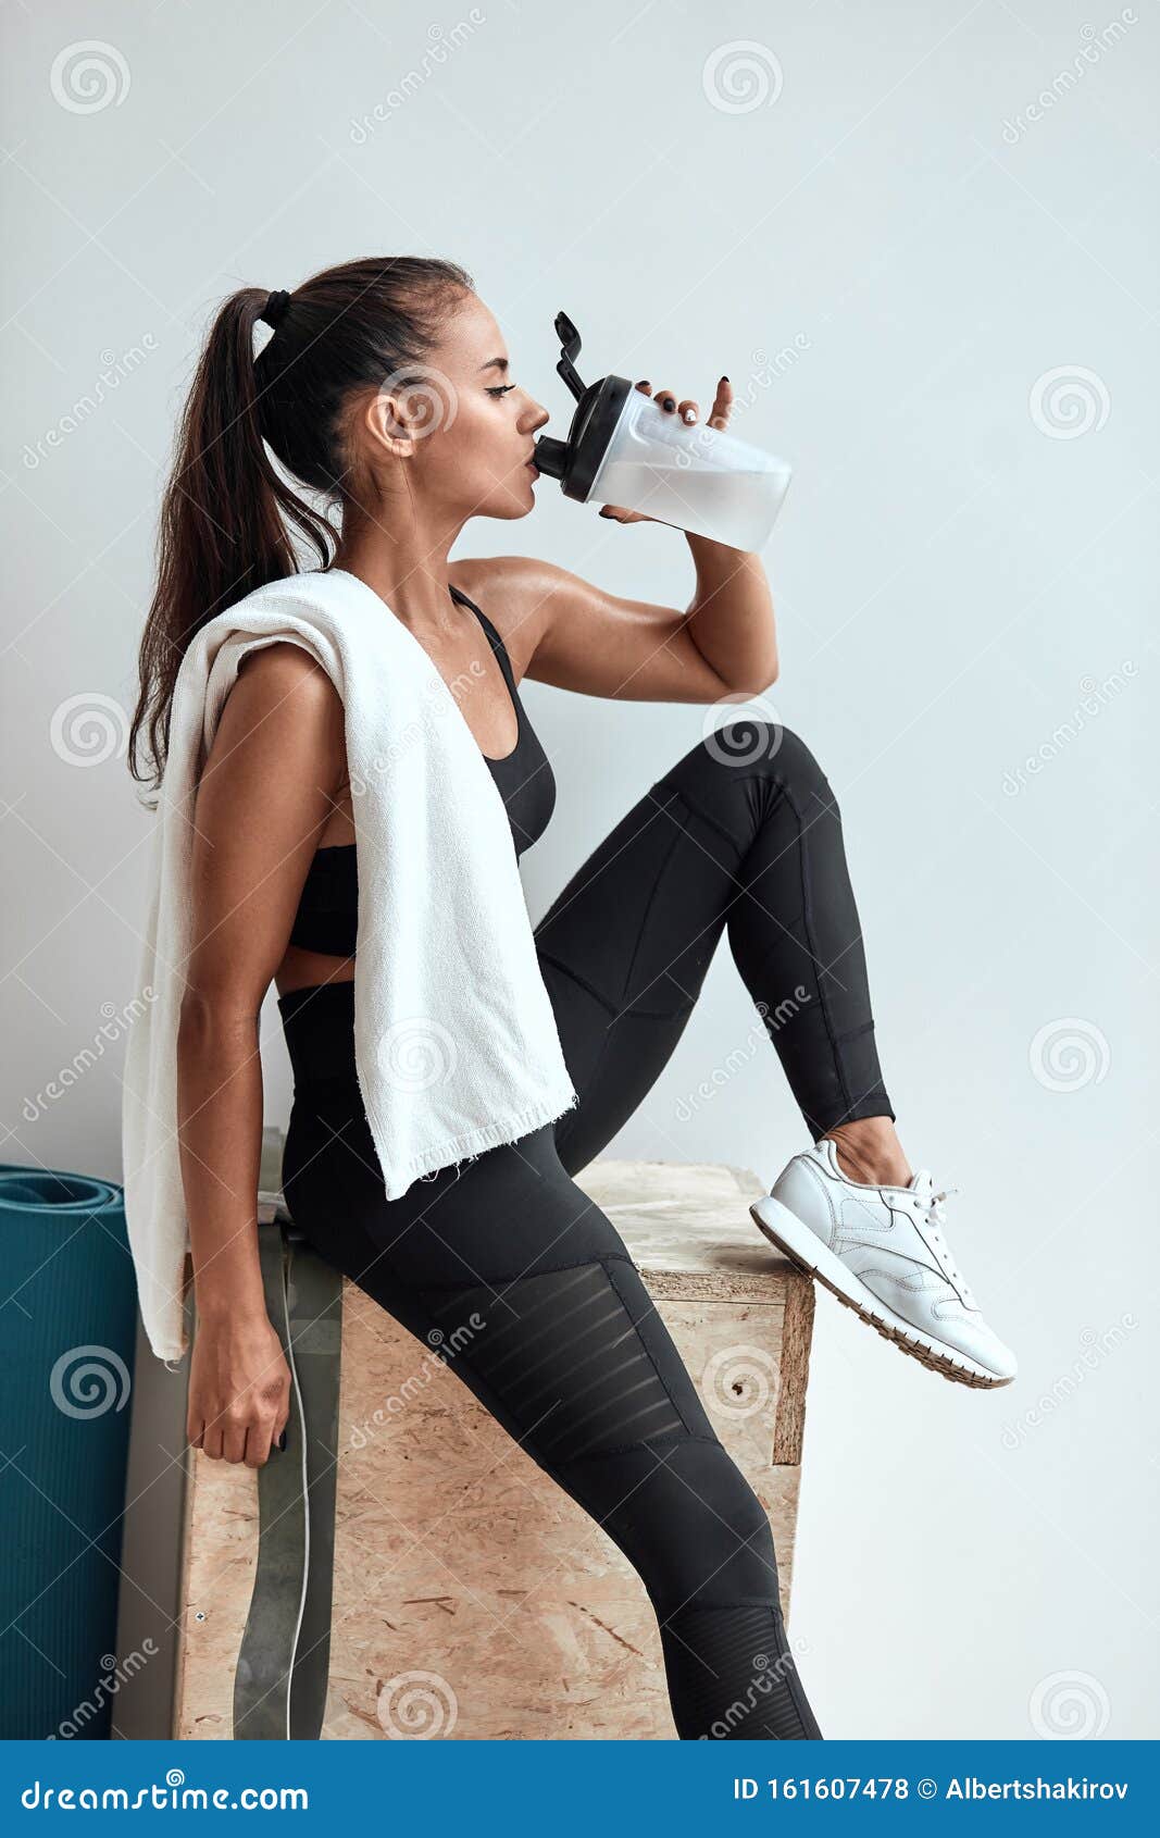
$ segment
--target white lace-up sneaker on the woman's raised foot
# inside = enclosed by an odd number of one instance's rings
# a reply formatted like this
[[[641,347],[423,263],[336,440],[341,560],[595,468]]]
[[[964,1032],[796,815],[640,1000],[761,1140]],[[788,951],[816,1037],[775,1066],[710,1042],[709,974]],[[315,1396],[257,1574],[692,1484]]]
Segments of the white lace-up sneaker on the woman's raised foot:
[[[847,1180],[824,1136],[787,1162],[750,1213],[778,1250],[904,1353],[960,1384],[1009,1384],[1018,1364],[954,1265],[945,1198],[925,1167],[906,1187]]]

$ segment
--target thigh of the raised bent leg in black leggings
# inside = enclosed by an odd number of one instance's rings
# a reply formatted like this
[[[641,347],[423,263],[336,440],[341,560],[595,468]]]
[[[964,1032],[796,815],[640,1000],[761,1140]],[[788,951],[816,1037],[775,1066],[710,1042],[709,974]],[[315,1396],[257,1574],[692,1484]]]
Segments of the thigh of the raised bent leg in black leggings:
[[[734,779],[735,831],[704,814],[704,746],[632,805],[535,926],[579,1105],[555,1121],[570,1173],[586,1167],[664,1072],[693,1011],[754,834]]]

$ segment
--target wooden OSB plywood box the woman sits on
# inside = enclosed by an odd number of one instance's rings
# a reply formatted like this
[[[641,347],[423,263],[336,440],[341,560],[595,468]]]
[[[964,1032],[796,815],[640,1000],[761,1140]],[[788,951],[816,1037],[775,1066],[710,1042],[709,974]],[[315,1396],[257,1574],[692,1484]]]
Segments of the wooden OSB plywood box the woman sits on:
[[[813,1287],[748,1220],[763,1187],[745,1171],[596,1162],[577,1178],[768,1511],[789,1612]],[[351,1283],[335,1459],[324,1737],[673,1737],[636,1571],[454,1369]],[[256,1472],[195,1450],[180,1737],[232,1735],[256,1537]]]

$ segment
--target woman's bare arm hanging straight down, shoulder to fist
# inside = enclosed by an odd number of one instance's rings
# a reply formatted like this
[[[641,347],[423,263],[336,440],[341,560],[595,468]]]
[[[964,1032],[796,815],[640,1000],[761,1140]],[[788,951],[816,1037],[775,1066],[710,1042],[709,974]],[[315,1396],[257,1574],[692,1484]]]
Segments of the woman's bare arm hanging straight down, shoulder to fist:
[[[250,652],[197,790],[193,948],[176,1046],[199,1314],[189,1441],[248,1465],[265,1461],[289,1412],[257,1259],[257,1020],[344,770],[342,702],[327,673],[298,645]]]

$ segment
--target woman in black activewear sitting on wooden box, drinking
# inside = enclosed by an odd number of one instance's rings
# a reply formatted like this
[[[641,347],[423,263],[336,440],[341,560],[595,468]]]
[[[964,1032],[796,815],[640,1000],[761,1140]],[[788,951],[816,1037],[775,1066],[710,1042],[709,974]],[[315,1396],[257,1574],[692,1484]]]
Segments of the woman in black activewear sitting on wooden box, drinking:
[[[274,331],[254,358],[259,318]],[[638,388],[651,393],[647,380]],[[697,421],[697,404],[675,391],[656,401]],[[730,401],[722,377],[713,426]],[[298,570],[285,522],[322,566],[373,588],[384,619],[403,619],[456,684],[517,855],[542,834],[555,798],[522,676],[625,700],[763,691],[778,660],[756,555],[688,537],[688,612],[618,599],[550,562],[449,561],[471,516],[533,507],[533,436],[546,419],[454,263],[355,261],[294,294],[228,300],[188,403],[142,643],[134,746],[149,719],[158,783],[184,649],[213,614]],[[340,539],[263,441],[340,513]],[[893,1130],[833,792],[785,730],[735,720],[706,722],[706,733],[535,930],[579,1106],[388,1202],[355,1075],[342,706],[294,645],[245,658],[195,809],[197,945],[178,1037],[199,1314],[188,1432],[206,1454],[256,1467],[289,1413],[252,1230],[256,1018],[274,980],[294,1070],[283,1186],[296,1224],[419,1340],[439,1333],[458,1345],[461,1380],[625,1551],[658,1614],[680,1737],[818,1737],[765,1511],[623,1241],[572,1180],[647,1095],[722,930],[813,1138],[759,1222],[947,1375],[995,1384],[1013,1364],[949,1263],[941,1195],[925,1171],[912,1174]]]

